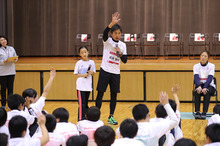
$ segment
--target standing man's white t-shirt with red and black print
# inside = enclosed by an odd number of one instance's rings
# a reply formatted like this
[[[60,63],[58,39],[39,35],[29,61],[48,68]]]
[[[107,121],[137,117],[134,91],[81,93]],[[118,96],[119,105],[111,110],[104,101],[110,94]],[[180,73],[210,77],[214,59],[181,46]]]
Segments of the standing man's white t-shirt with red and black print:
[[[111,37],[103,42],[103,57],[101,68],[109,73],[120,74],[120,57],[117,56],[116,45],[120,48],[122,55],[127,55],[126,44],[122,41],[115,42]]]

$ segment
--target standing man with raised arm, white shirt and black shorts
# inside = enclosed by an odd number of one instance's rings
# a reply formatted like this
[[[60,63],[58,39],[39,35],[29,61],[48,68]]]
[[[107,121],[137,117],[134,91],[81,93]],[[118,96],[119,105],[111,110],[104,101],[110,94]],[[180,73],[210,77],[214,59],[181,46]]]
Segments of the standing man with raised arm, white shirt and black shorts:
[[[127,62],[126,44],[120,41],[122,28],[117,23],[120,21],[118,12],[112,14],[112,21],[103,33],[103,57],[97,84],[96,106],[101,108],[102,98],[108,84],[110,85],[111,100],[108,123],[117,125],[113,118],[116,107],[117,93],[120,92],[120,62]],[[108,37],[109,31],[111,37]]]

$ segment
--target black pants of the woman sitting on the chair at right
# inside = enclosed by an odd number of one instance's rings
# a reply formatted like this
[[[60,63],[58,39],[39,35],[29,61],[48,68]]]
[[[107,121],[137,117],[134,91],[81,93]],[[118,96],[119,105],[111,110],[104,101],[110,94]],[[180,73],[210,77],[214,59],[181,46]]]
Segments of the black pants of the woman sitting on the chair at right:
[[[210,97],[214,95],[215,93],[215,88],[212,86],[209,86],[207,88],[209,91],[203,95],[202,93],[198,94],[196,91],[194,92],[195,95],[195,111],[199,112],[200,111],[200,103],[201,103],[201,96],[203,96],[203,112],[208,112],[209,109],[209,102],[210,102]]]

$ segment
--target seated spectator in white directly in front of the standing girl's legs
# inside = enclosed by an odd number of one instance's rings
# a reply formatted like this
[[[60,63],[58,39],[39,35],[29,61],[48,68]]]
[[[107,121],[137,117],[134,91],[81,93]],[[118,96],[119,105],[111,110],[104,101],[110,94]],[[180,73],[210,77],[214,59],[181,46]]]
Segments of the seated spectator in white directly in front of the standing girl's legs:
[[[77,122],[77,128],[80,134],[85,134],[88,136],[88,144],[94,145],[94,132],[97,128],[104,125],[104,123],[99,120],[100,119],[100,110],[99,108],[92,106],[86,112],[86,119]]]

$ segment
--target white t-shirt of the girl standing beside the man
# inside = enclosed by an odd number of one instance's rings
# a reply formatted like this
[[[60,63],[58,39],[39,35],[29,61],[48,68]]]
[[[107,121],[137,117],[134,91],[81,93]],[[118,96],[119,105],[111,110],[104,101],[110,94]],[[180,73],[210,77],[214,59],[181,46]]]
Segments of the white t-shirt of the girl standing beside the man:
[[[91,65],[90,70],[96,72],[94,61],[79,60],[75,65],[74,74],[85,74],[88,71],[89,65]],[[80,91],[92,91],[92,75],[89,74],[86,78],[78,77],[76,80],[76,89]]]

